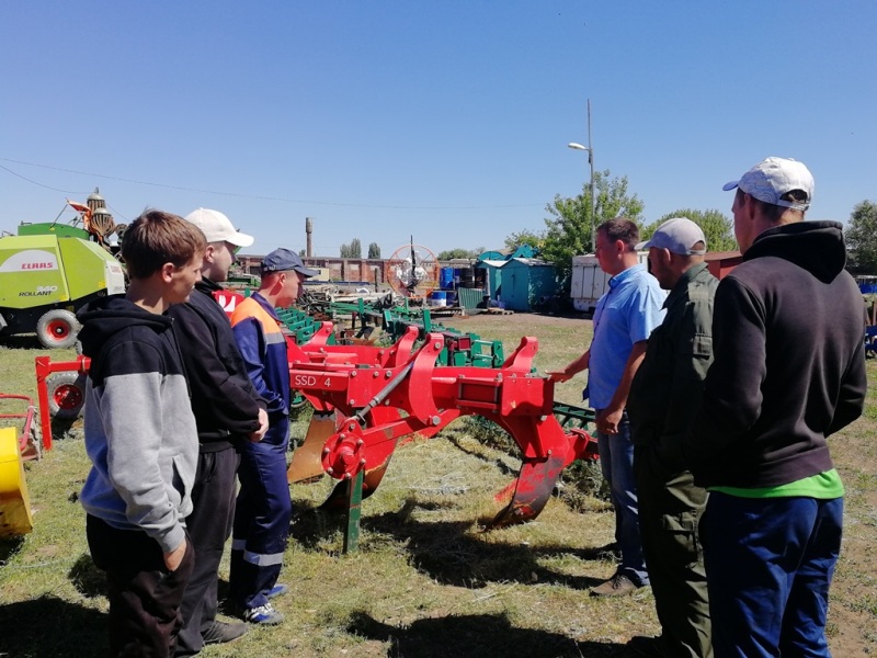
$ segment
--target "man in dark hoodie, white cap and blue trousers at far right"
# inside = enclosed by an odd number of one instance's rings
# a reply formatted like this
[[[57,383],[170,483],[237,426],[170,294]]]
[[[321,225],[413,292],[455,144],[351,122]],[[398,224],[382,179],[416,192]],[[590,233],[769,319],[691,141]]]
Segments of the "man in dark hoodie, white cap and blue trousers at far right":
[[[710,491],[702,540],[716,658],[829,656],[843,485],[827,436],[858,418],[864,310],[836,222],[804,222],[813,178],[767,158],[731,212],[743,262],[716,292],[715,361],[688,433],[652,466]]]

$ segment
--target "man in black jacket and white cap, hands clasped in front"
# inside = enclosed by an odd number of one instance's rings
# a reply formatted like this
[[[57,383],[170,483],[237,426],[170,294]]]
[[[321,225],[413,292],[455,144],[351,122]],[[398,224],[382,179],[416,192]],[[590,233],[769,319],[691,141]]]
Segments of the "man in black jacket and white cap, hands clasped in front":
[[[179,337],[192,410],[198,429],[193,511],[186,519],[195,546],[195,571],[183,598],[183,629],[175,656],[194,656],[205,644],[230,642],[246,624],[216,620],[219,563],[235,518],[236,443],[260,441],[267,430],[265,402],[253,388],[225,311],[214,299],[228,279],[235,251],[253,238],[235,229],[223,213],[198,208],[186,217],[207,238],[202,280],[186,304],[168,311]]]

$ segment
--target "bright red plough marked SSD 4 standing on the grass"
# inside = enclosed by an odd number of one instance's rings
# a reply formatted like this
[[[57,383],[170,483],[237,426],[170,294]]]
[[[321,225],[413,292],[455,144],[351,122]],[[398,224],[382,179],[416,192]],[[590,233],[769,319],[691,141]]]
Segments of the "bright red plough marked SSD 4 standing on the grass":
[[[467,415],[500,426],[522,453],[517,478],[497,495],[508,504],[489,527],[536,518],[561,470],[596,454],[584,429],[565,429],[555,416],[554,383],[533,373],[535,338],[523,338],[500,367],[479,367],[443,365],[453,362],[444,351],[465,348],[465,336],[431,332],[419,348],[414,327],[386,348],[330,344],[331,336],[332,325],[324,322],[304,344],[287,339],[292,387],[315,408],[305,443],[293,454],[289,481],[323,472],[342,480],[328,506],[346,500],[349,510],[358,507],[354,486],[361,483],[363,498],[372,494],[401,440],[431,438]]]

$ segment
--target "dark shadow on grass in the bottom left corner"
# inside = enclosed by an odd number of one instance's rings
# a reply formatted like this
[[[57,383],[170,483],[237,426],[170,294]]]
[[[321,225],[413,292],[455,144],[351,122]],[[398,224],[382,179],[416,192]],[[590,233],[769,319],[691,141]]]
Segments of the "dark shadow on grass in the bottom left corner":
[[[0,656],[103,657],[106,632],[104,613],[49,594],[0,605]]]

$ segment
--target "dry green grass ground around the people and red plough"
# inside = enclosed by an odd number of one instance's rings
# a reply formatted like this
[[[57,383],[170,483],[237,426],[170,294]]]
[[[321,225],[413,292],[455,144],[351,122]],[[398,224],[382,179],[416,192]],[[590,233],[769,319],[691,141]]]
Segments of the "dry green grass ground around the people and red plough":
[[[565,365],[590,341],[582,319],[514,315],[445,324],[503,340],[506,354],[525,334],[540,342],[540,371]],[[0,392],[35,395],[33,359],[22,339],[0,348]],[[53,359],[71,353],[53,352]],[[869,362],[874,382],[877,364]],[[578,404],[582,381],[557,399]],[[9,409],[0,405],[0,411]],[[9,411],[8,411],[9,412]],[[294,434],[304,432],[297,423]],[[0,656],[92,657],[106,651],[106,599],[84,537],[77,498],[89,462],[81,426],[56,426],[55,447],[26,464],[34,531],[0,542]],[[835,656],[877,654],[877,399],[832,439],[846,489],[846,535],[832,589]],[[592,496],[549,501],[535,521],[483,532],[498,511],[493,494],[520,460],[459,420],[438,436],[397,451],[380,488],[363,503],[360,551],[342,555],[338,518],[316,510],[334,485],[324,477],[292,487],[294,521],[276,600],[282,626],[253,628],[210,646],[205,657],[608,657],[626,656],[633,635],[659,626],[648,588],[622,600],[592,599],[611,576],[614,518]],[[576,483],[567,476],[561,490]],[[227,577],[227,563],[223,578]],[[225,582],[220,583],[220,588]],[[223,590],[220,589],[220,592]]]

